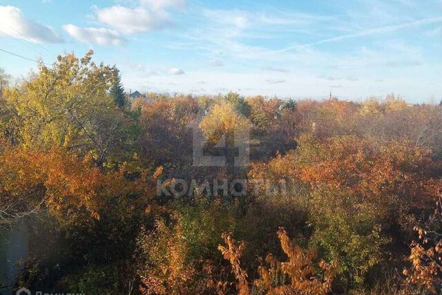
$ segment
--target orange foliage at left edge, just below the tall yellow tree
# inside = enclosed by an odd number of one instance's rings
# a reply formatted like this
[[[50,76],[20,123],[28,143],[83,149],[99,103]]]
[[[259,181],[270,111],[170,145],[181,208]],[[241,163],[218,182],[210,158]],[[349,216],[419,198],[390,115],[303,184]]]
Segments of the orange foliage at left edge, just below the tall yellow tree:
[[[108,198],[138,194],[152,196],[153,183],[146,173],[136,180],[126,177],[129,166],[103,173],[90,158],[61,148],[50,151],[3,146],[0,151],[1,217],[19,218],[39,209],[63,219],[79,212],[99,218]]]

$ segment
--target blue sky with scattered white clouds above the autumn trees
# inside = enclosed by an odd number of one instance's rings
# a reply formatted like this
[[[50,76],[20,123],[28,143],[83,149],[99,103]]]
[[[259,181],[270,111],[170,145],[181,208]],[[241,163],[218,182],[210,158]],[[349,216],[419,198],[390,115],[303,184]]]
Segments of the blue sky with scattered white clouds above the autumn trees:
[[[442,99],[442,0],[0,0],[0,49],[89,48],[127,91]],[[35,65],[0,51],[15,78]]]

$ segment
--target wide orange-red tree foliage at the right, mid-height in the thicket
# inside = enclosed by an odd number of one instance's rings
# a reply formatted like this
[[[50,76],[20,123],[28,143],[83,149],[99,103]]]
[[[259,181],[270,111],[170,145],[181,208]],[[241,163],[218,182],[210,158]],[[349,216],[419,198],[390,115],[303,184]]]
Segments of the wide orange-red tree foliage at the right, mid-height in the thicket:
[[[269,163],[253,165],[252,179],[302,181],[311,188],[345,188],[355,195],[388,202],[394,196],[413,207],[431,208],[440,182],[440,169],[430,151],[407,140],[385,141],[353,135],[323,141],[311,135],[298,139],[298,149]]]

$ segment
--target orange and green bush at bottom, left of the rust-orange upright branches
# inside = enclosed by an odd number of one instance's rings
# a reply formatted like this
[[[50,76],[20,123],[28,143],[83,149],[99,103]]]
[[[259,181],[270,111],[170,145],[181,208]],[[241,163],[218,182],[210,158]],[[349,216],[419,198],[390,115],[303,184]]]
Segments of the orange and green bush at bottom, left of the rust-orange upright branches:
[[[220,200],[197,196],[191,204],[157,207],[155,227],[138,238],[142,294],[214,294],[225,275],[217,245],[234,220]]]

